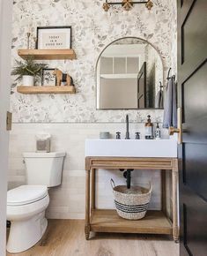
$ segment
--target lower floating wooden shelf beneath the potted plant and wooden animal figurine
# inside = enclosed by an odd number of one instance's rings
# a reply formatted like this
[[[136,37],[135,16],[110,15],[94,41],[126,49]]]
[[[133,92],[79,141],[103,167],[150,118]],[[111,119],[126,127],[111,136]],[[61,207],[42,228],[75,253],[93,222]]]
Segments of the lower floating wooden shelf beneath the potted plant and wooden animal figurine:
[[[17,87],[20,94],[76,94],[75,87]]]

